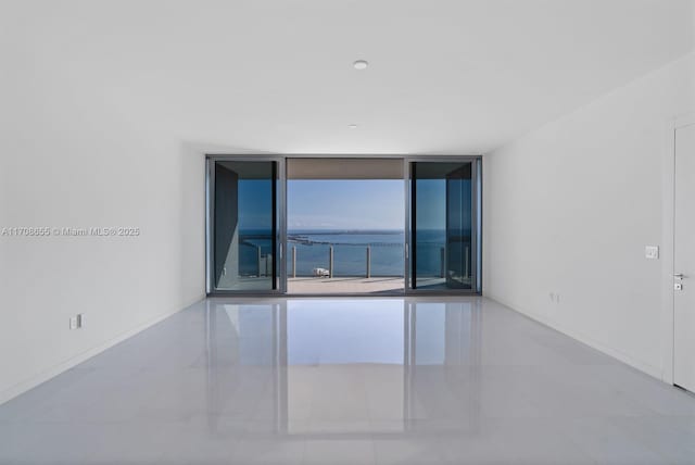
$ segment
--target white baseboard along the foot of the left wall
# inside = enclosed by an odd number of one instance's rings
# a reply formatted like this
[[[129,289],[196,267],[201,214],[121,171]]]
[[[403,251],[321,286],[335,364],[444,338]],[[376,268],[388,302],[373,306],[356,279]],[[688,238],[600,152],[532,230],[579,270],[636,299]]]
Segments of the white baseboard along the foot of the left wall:
[[[24,392],[36,388],[37,386],[39,386],[42,382],[48,381],[51,378],[54,378],[55,376],[60,375],[63,372],[68,370],[70,368],[73,368],[77,365],[79,365],[80,363],[85,362],[88,359],[91,359],[94,355],[100,354],[101,352],[105,351],[106,349],[110,349],[112,347],[114,347],[115,344],[117,344],[118,342],[122,342],[135,335],[137,335],[138,332],[141,332],[146,329],[148,329],[151,326],[156,325],[157,323],[162,322],[163,319],[168,318],[172,315],[177,314],[178,312],[181,312],[186,309],[188,309],[189,306],[195,304],[197,302],[200,302],[201,300],[205,299],[205,296],[200,296],[198,298],[195,298],[193,301],[191,301],[188,304],[185,304],[182,307],[179,307],[178,310],[175,310],[173,312],[165,312],[162,313],[151,319],[149,319],[148,322],[136,326],[135,328],[131,328],[118,336],[116,336],[113,339],[108,340],[106,342],[103,342],[97,347],[93,347],[85,352],[81,352],[62,363],[59,363],[58,365],[51,366],[50,368],[41,372],[40,374],[37,374],[35,376],[31,376],[30,378],[21,381],[14,386],[12,386],[9,389],[5,389],[4,391],[0,392],[0,405],[2,405],[3,403],[16,398],[17,395],[23,394]]]

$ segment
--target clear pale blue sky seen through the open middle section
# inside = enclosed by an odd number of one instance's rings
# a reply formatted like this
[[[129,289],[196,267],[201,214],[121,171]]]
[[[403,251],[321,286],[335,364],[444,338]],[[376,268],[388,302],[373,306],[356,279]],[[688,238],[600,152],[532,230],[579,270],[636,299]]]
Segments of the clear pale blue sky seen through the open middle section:
[[[289,229],[403,229],[400,179],[289,180]]]

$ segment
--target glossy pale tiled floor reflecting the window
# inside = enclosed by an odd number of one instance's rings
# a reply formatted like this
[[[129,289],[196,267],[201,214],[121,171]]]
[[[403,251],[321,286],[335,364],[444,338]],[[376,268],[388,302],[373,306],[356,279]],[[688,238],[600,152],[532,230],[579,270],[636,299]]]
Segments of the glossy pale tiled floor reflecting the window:
[[[485,299],[210,300],[0,406],[1,464],[695,464],[695,397]]]

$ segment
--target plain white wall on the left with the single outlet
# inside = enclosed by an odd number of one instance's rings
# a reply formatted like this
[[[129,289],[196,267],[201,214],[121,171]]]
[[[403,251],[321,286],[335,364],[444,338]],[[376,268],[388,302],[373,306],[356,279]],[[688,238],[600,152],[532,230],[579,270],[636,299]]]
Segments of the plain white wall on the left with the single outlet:
[[[0,228],[141,235],[0,236],[0,403],[204,297],[203,154],[21,27],[0,36]]]

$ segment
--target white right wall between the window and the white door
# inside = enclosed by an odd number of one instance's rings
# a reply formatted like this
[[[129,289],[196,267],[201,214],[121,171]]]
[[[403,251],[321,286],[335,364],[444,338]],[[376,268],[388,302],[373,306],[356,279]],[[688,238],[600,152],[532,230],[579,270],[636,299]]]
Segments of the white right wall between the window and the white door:
[[[665,376],[669,289],[644,247],[664,241],[667,123],[694,83],[690,54],[484,156],[488,297]]]

